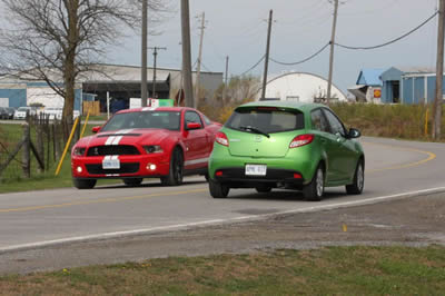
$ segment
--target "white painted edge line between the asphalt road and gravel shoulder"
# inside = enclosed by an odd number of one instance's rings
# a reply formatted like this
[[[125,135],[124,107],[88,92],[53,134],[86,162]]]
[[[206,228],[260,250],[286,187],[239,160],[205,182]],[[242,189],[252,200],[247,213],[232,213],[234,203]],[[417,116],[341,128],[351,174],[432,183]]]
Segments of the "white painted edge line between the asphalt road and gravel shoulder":
[[[247,221],[247,220],[260,220],[260,219],[265,219],[268,217],[288,215],[288,214],[312,213],[312,211],[330,210],[330,209],[346,208],[346,207],[354,207],[354,206],[372,205],[372,204],[377,204],[379,201],[385,201],[385,200],[390,200],[390,199],[408,198],[408,197],[414,197],[414,196],[422,196],[422,195],[427,195],[427,194],[438,194],[438,193],[444,193],[444,191],[445,191],[445,187],[437,187],[437,188],[423,189],[423,190],[409,191],[409,193],[397,194],[397,195],[372,197],[372,198],[366,198],[363,200],[344,201],[344,203],[337,203],[337,204],[332,204],[332,205],[319,205],[319,206],[308,207],[308,208],[304,208],[304,209],[291,209],[291,210],[278,211],[278,213],[273,213],[273,214],[249,215],[249,216],[241,216],[241,217],[229,218],[229,219],[214,219],[214,220],[205,220],[205,221],[188,223],[188,224],[177,224],[177,225],[170,225],[170,226],[159,226],[159,227],[145,228],[145,229],[134,229],[134,230],[105,233],[105,234],[96,234],[96,235],[87,235],[87,236],[76,236],[76,237],[68,237],[68,238],[53,239],[53,240],[43,240],[43,241],[38,241],[38,243],[30,243],[30,244],[3,247],[3,248],[0,248],[0,254],[9,253],[9,251],[19,251],[19,250],[42,248],[42,247],[49,247],[49,246],[57,246],[57,245],[69,244],[69,243],[103,240],[103,239],[110,239],[110,238],[121,238],[121,237],[126,237],[126,236],[146,235],[146,234],[152,234],[152,233],[159,233],[159,231],[181,230],[181,229],[199,227],[199,226],[239,223],[239,221]]]

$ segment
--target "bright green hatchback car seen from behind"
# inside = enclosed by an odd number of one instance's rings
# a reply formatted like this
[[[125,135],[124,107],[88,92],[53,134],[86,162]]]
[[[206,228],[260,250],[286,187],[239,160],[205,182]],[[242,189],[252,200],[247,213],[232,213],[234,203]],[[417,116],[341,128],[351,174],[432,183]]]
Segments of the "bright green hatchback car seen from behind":
[[[303,190],[322,200],[325,187],[362,194],[365,155],[357,129],[346,130],[325,105],[257,101],[237,107],[216,135],[209,159],[209,190],[225,198],[230,188]]]

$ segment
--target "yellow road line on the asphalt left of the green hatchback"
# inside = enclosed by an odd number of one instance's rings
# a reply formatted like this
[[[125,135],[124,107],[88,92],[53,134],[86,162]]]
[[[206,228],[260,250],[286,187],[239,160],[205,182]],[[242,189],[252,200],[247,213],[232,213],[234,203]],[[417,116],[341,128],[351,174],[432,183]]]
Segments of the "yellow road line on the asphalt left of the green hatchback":
[[[30,211],[30,210],[38,210],[38,209],[63,208],[63,207],[70,207],[70,206],[105,204],[105,203],[119,203],[119,201],[136,200],[136,199],[144,199],[144,198],[158,197],[158,196],[185,195],[185,194],[204,193],[204,191],[207,191],[207,189],[182,190],[182,191],[172,191],[172,193],[164,193],[164,194],[159,193],[159,194],[131,196],[131,197],[101,198],[101,199],[95,199],[95,200],[82,200],[82,201],[63,203],[63,204],[57,204],[57,205],[33,206],[33,207],[7,208],[7,209],[0,209],[0,213]]]

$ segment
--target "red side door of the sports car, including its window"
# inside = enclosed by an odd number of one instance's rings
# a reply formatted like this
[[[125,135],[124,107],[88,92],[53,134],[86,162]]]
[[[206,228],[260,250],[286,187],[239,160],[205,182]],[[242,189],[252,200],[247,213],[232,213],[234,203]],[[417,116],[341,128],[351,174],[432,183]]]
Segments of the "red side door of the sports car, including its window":
[[[188,124],[199,124],[200,128],[187,129]],[[206,130],[201,118],[196,111],[188,110],[184,116],[184,137],[186,145],[186,161],[187,169],[196,169],[207,166],[209,151],[207,149]]]

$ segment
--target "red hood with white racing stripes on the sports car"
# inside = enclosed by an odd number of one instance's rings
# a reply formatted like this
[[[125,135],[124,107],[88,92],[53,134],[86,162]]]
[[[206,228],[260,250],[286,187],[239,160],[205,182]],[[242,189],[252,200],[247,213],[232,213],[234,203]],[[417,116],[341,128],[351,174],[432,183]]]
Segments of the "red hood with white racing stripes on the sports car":
[[[160,145],[164,140],[177,137],[179,131],[166,129],[122,129],[102,131],[80,139],[76,146],[92,147],[103,145]]]

